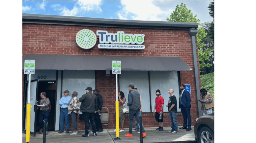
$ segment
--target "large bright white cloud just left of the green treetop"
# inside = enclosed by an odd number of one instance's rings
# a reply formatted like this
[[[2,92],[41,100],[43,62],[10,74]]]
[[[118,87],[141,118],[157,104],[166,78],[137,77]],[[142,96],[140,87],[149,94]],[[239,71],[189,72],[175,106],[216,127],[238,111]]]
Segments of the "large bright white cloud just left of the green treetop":
[[[156,6],[155,1],[121,1],[121,4],[123,8],[117,12],[119,19],[166,21],[172,12]]]

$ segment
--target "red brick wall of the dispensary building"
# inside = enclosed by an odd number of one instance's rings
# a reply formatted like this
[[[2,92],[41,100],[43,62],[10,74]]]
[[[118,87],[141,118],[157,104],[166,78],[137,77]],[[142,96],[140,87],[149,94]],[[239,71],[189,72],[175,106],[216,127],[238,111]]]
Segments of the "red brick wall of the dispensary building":
[[[96,45],[89,49],[80,48],[75,42],[75,35],[81,29],[90,29],[94,33],[97,30],[107,30],[108,33],[124,31],[130,34],[145,34],[144,50],[113,50],[99,49]],[[167,56],[180,57],[193,69],[191,37],[187,30],[143,29],[143,28],[114,28],[91,27],[47,24],[24,24],[22,28],[22,57],[26,53],[32,54],[69,54],[69,55],[105,55],[105,56]],[[97,36],[99,38],[99,36]],[[201,88],[199,61],[197,54],[197,70]],[[194,70],[194,69],[193,69]],[[195,81],[193,71],[181,71],[181,84],[191,85],[191,119],[192,126],[197,118],[197,105],[195,95]],[[97,71],[97,88],[103,97],[103,107],[109,109],[110,128],[115,128],[115,75],[105,76],[105,71]],[[24,77],[24,74],[23,74]],[[23,79],[24,81],[24,79]],[[23,94],[23,93],[22,93]],[[158,127],[155,115],[142,114],[144,127]],[[183,117],[178,113],[178,126],[183,125]],[[71,120],[70,120],[71,121]],[[78,130],[84,130],[83,121],[77,120]],[[164,126],[171,126],[169,115],[164,114]],[[135,126],[135,123],[133,123]],[[70,131],[72,123],[70,122]],[[125,119],[125,128],[128,128],[128,114]],[[107,126],[103,126],[107,129]]]

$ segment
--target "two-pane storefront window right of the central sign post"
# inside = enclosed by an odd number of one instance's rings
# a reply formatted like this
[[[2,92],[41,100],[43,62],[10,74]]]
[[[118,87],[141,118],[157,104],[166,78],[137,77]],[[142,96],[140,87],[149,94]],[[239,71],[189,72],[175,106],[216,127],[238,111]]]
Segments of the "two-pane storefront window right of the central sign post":
[[[164,112],[168,112],[165,104],[168,103],[170,88],[174,89],[177,98],[177,108],[179,108],[179,81],[177,71],[150,71],[150,89],[148,71],[122,71],[119,75],[120,91],[123,91],[128,102],[128,85],[132,83],[138,88],[142,100],[142,112],[153,112],[155,107],[156,90],[161,91],[164,98]],[[150,96],[151,93],[151,110]],[[178,109],[180,111],[180,109]]]

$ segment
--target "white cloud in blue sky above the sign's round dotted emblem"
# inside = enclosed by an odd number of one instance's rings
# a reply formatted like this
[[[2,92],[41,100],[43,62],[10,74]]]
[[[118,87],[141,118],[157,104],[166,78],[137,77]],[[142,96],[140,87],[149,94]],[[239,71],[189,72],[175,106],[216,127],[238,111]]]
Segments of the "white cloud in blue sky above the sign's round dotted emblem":
[[[60,4],[51,5],[51,8],[59,11],[59,13],[64,16],[77,16],[77,14],[83,14],[90,11],[100,13],[102,12],[102,9],[100,8],[101,5],[101,1],[79,0],[75,3],[73,9],[71,10]]]

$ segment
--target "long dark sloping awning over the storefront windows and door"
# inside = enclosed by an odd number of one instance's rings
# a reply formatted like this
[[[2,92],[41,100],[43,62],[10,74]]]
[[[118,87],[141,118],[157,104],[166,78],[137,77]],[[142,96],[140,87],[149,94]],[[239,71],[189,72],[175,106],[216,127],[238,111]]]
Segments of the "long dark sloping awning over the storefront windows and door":
[[[35,60],[35,69],[112,70],[112,61],[121,61],[124,71],[187,71],[192,70],[180,57],[93,56],[26,54],[24,60]]]

